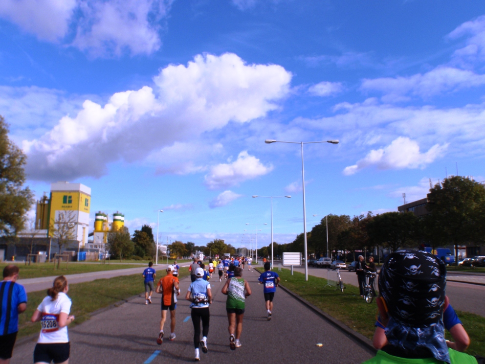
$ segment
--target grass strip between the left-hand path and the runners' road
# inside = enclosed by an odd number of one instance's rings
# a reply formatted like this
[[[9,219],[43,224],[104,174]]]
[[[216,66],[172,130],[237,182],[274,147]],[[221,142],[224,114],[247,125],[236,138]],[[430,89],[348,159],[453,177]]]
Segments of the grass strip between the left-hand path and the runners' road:
[[[188,274],[188,268],[181,268],[179,279],[182,279]],[[163,274],[163,276],[164,275],[165,274]],[[155,284],[156,283],[157,282],[155,282]],[[144,292],[144,290],[143,280],[140,279],[139,274],[70,284],[67,296],[72,300],[71,315],[74,315],[76,319],[69,325],[69,327],[73,327],[74,325],[86,321],[89,319],[89,315],[96,310],[110,306],[123,299],[139,295]],[[40,322],[32,323],[30,322],[30,318],[45,296],[45,291],[31,292],[27,294],[27,310],[19,315],[18,337],[38,333],[40,331]]]

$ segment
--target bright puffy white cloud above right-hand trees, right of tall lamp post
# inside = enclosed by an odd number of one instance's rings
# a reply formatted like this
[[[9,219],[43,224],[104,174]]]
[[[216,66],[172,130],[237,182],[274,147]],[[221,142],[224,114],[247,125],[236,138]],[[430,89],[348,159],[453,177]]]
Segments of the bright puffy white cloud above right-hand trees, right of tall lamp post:
[[[390,145],[371,150],[364,159],[345,167],[343,173],[350,176],[371,165],[379,169],[424,168],[441,157],[447,148],[448,144],[435,144],[426,153],[420,153],[419,144],[416,141],[408,137],[398,137]]]

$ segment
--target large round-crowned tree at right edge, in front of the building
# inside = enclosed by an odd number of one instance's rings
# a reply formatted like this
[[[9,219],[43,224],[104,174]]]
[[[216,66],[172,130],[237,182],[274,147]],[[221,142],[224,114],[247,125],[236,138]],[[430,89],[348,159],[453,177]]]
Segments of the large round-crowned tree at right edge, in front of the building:
[[[484,185],[460,176],[447,178],[430,189],[427,209],[427,223],[434,227],[433,232],[441,242],[455,247],[456,265],[459,245],[484,243]]]

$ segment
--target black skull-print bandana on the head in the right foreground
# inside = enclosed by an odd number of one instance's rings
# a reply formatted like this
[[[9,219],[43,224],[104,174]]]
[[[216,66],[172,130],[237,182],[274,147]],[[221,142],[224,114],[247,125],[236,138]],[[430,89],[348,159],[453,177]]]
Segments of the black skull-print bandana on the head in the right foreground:
[[[386,258],[378,284],[391,317],[385,331],[389,344],[427,347],[436,359],[449,363],[442,321],[446,267],[441,259],[421,250],[396,251]]]

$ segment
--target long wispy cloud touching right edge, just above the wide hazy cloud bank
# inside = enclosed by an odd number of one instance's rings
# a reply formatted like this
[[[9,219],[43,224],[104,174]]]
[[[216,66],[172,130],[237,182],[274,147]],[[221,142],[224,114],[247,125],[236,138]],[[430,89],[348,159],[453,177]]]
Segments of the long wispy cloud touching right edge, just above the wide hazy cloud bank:
[[[485,85],[485,75],[470,70],[440,66],[424,74],[418,73],[409,77],[365,79],[360,89],[381,91],[386,94],[384,101],[406,101],[408,99],[403,96],[427,98],[481,85]]]

